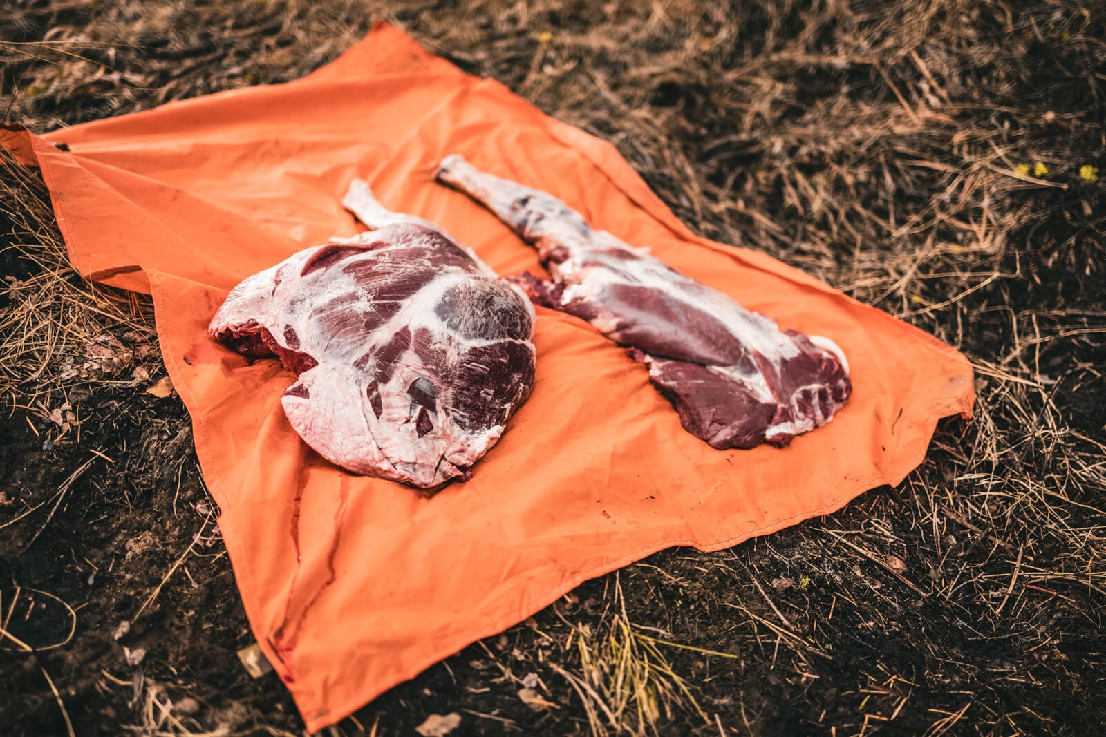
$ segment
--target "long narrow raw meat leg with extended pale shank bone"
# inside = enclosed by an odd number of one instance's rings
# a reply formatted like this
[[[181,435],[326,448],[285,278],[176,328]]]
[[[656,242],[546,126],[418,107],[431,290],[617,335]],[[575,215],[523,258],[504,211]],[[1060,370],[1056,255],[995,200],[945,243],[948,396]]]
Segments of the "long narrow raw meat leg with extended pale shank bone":
[[[649,368],[684,428],[718,449],[785,445],[825,424],[852,391],[828,338],[779,329],[670,269],[561,200],[449,156],[438,180],[482,203],[538,249],[552,281],[513,278],[538,304],[591,323]]]

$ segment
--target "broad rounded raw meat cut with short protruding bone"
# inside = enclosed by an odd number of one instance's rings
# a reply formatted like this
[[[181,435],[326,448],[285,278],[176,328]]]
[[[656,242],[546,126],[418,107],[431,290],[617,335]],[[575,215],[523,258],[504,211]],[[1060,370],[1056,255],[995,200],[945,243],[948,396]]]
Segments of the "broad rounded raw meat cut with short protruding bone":
[[[365,182],[343,204],[376,230],[250,276],[208,330],[299,375],[281,404],[328,461],[414,486],[465,481],[533,387],[534,308],[432,223],[386,210]]]

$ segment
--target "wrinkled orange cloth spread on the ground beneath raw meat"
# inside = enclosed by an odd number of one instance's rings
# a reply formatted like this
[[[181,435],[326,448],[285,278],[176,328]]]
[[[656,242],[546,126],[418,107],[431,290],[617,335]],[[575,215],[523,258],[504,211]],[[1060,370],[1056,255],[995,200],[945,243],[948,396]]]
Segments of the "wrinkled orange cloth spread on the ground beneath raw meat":
[[[153,293],[250,624],[312,730],[587,578],[674,545],[724,548],[898,483],[938,419],[971,410],[956,350],[769,256],[695,236],[614,147],[387,25],[296,82],[0,137],[41,166],[74,266]],[[832,338],[852,365],[848,403],[786,449],[711,450],[641,365],[539,308],[533,394],[470,482],[427,498],[330,465],[284,418],[292,375],[213,344],[208,320],[244,276],[355,233],[340,203],[355,176],[500,274],[541,273],[494,217],[434,182],[455,151],[782,328]]]

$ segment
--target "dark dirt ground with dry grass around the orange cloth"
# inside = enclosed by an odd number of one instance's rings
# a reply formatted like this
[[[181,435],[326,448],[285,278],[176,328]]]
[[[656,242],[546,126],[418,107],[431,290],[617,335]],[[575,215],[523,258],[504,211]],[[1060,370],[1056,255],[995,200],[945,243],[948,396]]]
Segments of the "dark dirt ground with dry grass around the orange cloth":
[[[387,19],[613,141],[696,231],[975,367],[974,418],[900,486],[588,581],[331,734],[1106,720],[1106,13],[733,6],[0,0],[0,109],[38,131],[292,80]],[[302,734],[236,654],[252,639],[148,299],[69,270],[34,171],[3,160],[0,192],[0,731]]]

